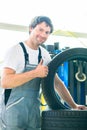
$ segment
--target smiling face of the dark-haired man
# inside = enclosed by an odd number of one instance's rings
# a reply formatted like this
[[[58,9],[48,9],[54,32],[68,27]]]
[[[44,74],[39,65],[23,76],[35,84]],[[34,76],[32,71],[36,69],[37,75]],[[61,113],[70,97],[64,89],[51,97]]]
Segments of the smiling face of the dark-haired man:
[[[49,35],[51,28],[46,22],[41,22],[35,28],[30,28],[30,41],[32,46],[38,47],[44,43]]]

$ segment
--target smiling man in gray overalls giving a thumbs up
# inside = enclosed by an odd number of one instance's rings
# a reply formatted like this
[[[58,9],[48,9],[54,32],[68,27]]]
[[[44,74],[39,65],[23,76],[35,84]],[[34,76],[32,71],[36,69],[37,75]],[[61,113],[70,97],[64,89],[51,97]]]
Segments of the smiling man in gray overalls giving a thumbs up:
[[[40,130],[40,81],[48,75],[47,64],[51,61],[49,53],[40,45],[52,32],[50,18],[37,16],[29,25],[29,38],[10,48],[6,54],[1,78],[5,89],[2,130]],[[55,87],[72,108],[85,109],[73,101],[57,76]]]

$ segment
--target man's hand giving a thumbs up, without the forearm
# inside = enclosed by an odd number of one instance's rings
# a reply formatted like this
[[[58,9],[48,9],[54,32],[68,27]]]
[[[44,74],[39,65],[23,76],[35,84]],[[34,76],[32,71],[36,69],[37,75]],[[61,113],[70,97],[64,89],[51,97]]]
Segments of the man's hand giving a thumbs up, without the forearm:
[[[48,66],[43,65],[43,59],[41,59],[40,63],[36,67],[37,77],[43,78],[48,75]]]

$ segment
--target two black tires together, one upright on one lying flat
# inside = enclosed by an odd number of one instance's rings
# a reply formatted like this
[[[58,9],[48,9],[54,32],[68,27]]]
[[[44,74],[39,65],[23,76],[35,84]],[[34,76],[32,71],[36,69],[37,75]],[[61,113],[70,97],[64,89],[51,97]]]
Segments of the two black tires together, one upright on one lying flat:
[[[54,90],[54,76],[57,67],[68,60],[85,60],[87,62],[86,48],[73,48],[59,53],[48,64],[49,74],[42,82],[44,98],[51,108],[43,111],[41,117],[41,130],[87,130],[87,111],[72,110],[62,104]]]

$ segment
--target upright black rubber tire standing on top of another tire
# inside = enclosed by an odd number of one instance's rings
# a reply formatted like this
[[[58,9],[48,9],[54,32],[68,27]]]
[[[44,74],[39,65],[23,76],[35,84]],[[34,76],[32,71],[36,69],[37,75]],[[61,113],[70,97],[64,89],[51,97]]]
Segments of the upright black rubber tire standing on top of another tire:
[[[87,61],[87,48],[72,48],[57,54],[48,64],[49,74],[42,80],[42,92],[48,106],[54,110],[69,109],[65,104],[59,100],[59,96],[54,90],[54,76],[57,68],[65,61],[70,60],[84,60]]]

